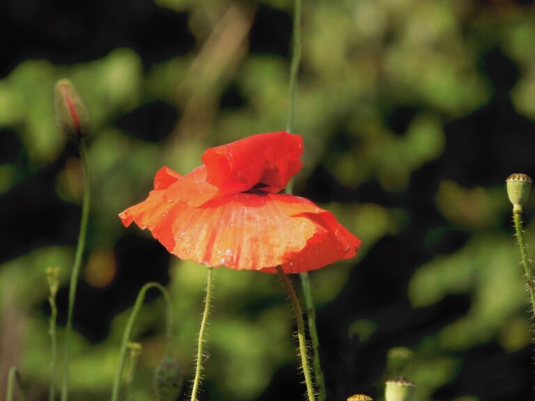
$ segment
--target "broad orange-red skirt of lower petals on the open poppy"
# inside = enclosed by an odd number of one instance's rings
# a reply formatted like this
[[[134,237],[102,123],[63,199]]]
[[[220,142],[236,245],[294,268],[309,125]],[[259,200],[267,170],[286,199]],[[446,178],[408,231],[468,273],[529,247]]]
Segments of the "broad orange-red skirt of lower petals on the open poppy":
[[[171,189],[171,187],[169,187]],[[290,195],[231,194],[200,207],[151,191],[125,210],[125,225],[148,228],[185,260],[233,269],[298,273],[355,255],[360,241],[330,212]]]

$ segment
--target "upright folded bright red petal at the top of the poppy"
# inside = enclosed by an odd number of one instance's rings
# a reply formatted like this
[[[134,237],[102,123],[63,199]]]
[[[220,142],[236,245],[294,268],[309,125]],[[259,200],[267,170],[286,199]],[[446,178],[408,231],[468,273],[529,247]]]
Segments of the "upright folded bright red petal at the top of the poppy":
[[[206,180],[221,194],[248,191],[257,184],[277,193],[302,167],[302,136],[288,132],[256,134],[204,152]]]

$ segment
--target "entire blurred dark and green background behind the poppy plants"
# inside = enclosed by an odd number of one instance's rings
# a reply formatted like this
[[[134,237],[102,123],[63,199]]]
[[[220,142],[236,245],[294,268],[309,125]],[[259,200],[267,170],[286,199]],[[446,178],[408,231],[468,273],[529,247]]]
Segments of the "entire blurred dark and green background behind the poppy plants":
[[[328,400],[382,400],[387,352],[417,400],[532,396],[525,281],[504,180],[534,175],[533,1],[304,0],[295,193],[362,239],[311,273]],[[17,365],[29,400],[49,381],[46,267],[61,267],[61,334],[83,190],[52,91],[91,112],[93,203],[75,309],[72,398],[109,396],[123,328],[147,281],[166,285],[176,356],[192,372],[206,269],[117,214],[161,166],[286,127],[292,1],[0,2],[0,397]],[[527,241],[535,201],[525,208]],[[293,315],[277,276],[215,272],[200,400],[299,400]],[[152,398],[164,306],[149,297],[135,400]],[[183,392],[185,399],[186,391]]]

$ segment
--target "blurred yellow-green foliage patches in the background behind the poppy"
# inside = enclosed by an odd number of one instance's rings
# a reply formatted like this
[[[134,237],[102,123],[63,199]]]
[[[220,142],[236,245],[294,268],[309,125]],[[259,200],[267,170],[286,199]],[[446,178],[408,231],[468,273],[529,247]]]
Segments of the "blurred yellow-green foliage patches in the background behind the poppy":
[[[223,60],[218,58],[221,49],[217,46],[224,50],[229,44],[216,42],[215,49],[208,45],[212,30],[224,24],[228,8],[235,7],[233,18],[250,26],[256,3],[156,3],[188,13],[198,43],[186,56],[146,69],[134,50],[121,48],[77,65],[22,61],[0,80],[0,127],[13,129],[24,145],[26,159],[25,168],[17,162],[0,165],[0,195],[52,164],[65,148],[52,111],[56,80],[69,77],[86,100],[93,125],[89,158],[95,187],[84,273],[89,285],[105,286],[113,279],[110,250],[124,233],[116,214],[144,199],[160,166],[187,173],[200,164],[207,146],[284,129],[286,122],[288,58],[248,53],[246,38]],[[291,12],[290,3],[263,2],[286,13]],[[306,152],[298,188],[305,186],[321,164],[348,190],[378,182],[386,194],[405,194],[412,175],[442,155],[447,141],[444,127],[474,113],[493,95],[493,86],[478,66],[479,56],[490,46],[498,46],[519,66],[511,100],[520,115],[535,118],[533,7],[506,1],[502,6],[481,6],[465,0],[304,3],[295,130],[303,134]],[[236,23],[231,20],[223,28],[232,29]],[[243,104],[221,108],[230,86],[243,97]],[[155,101],[180,111],[175,128],[162,141],[136,138],[116,125],[117,118]],[[387,121],[389,113],[405,106],[414,107],[415,116],[403,132],[394,132]],[[343,145],[333,141],[340,130],[347,141]],[[65,163],[56,180],[63,201],[79,204],[80,174],[76,159]],[[418,384],[418,400],[432,400],[438,388],[455,379],[463,352],[472,347],[497,342],[503,352],[514,352],[529,345],[524,283],[516,266],[518,250],[509,227],[504,227],[511,209],[504,188],[463,187],[444,177],[434,196],[427,202],[436,205],[449,228],[466,233],[468,239],[458,251],[435,254],[423,262],[404,291],[416,309],[459,294],[470,299],[470,308],[466,315],[411,345],[414,359],[409,374]],[[535,203],[530,205],[527,210],[533,210]],[[362,239],[359,260],[382,238],[403,232],[411,221],[410,211],[401,207],[369,202],[324,206]],[[440,242],[441,229],[430,230],[421,246],[433,249]],[[528,233],[534,231],[532,223]],[[139,235],[148,237],[147,233]],[[527,239],[535,242],[534,235]],[[47,316],[40,308],[47,297],[45,269],[61,267],[61,283],[66,285],[72,256],[68,246],[47,246],[0,266],[5,294],[1,310],[14,308],[24,316],[18,323],[25,338],[20,370],[31,378],[37,394],[45,391],[49,379]],[[354,265],[341,262],[311,274],[319,310],[339,296],[352,269],[358,269]],[[178,320],[177,357],[189,372],[206,272],[173,258],[169,274]],[[275,276],[229,269],[217,269],[215,276],[206,386],[215,400],[254,400],[274,371],[295,363],[292,316]],[[376,285],[379,291],[380,284]],[[8,286],[16,292],[6,290]],[[76,400],[102,399],[109,393],[127,313],[114,318],[109,336],[98,344],[75,336],[71,378]],[[163,322],[161,301],[144,306],[136,330],[144,333],[149,328],[154,334],[134,338],[143,343],[134,383],[139,401],[152,397],[152,372],[164,354]],[[357,336],[365,346],[378,329],[373,320],[357,319],[348,326],[348,338]],[[467,394],[457,400],[476,398]]]

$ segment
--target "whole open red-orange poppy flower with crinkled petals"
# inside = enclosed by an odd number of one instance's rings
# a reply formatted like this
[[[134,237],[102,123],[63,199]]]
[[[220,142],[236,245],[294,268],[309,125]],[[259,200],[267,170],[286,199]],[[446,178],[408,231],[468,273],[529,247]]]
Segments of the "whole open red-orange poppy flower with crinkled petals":
[[[300,273],[352,258],[360,240],[331,212],[277,194],[300,170],[302,152],[302,137],[288,132],[210,148],[187,175],[162,167],[148,198],[119,216],[179,258],[210,267]]]

